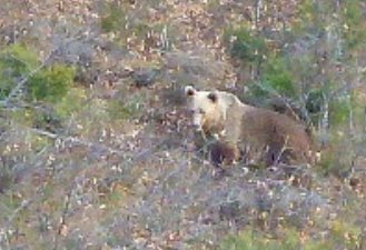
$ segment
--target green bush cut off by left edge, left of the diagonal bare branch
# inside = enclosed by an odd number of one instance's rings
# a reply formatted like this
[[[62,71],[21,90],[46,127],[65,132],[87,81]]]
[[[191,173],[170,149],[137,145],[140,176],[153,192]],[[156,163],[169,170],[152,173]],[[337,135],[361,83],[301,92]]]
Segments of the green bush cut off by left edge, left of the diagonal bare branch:
[[[0,100],[8,97],[16,83],[38,64],[38,56],[21,43],[2,50],[0,52]]]

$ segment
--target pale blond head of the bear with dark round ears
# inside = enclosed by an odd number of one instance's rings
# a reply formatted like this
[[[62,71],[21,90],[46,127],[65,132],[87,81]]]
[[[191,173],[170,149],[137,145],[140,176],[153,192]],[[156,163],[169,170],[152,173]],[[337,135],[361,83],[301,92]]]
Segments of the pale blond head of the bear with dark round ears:
[[[220,133],[224,130],[227,103],[221,92],[199,91],[191,86],[185,88],[187,106],[192,117],[192,126],[205,133]]]

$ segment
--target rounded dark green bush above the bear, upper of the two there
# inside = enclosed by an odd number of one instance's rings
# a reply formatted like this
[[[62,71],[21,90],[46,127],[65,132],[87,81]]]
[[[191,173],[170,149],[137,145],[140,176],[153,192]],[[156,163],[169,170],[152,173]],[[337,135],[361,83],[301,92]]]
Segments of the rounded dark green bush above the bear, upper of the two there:
[[[265,39],[244,27],[225,30],[224,42],[229,54],[243,62],[259,63],[268,52]]]

